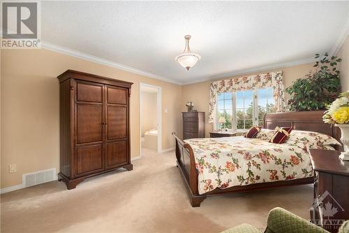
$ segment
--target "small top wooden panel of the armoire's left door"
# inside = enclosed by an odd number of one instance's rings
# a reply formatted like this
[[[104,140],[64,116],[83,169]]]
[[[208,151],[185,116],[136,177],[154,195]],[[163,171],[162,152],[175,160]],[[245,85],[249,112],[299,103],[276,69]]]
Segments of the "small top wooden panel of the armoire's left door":
[[[77,101],[101,103],[103,101],[103,86],[93,83],[77,83]]]

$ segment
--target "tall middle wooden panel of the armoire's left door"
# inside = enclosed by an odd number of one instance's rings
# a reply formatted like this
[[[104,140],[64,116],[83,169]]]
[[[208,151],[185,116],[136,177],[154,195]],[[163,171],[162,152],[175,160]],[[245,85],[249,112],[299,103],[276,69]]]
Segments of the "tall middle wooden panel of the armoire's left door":
[[[102,105],[77,104],[77,143],[103,141]]]

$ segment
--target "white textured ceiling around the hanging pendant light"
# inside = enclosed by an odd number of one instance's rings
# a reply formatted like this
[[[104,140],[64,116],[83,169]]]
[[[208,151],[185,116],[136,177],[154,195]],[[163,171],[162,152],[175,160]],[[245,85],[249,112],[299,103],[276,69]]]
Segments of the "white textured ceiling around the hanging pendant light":
[[[183,84],[334,52],[348,12],[349,1],[43,1],[41,34],[46,48]],[[174,61],[186,34],[202,56],[190,71]]]

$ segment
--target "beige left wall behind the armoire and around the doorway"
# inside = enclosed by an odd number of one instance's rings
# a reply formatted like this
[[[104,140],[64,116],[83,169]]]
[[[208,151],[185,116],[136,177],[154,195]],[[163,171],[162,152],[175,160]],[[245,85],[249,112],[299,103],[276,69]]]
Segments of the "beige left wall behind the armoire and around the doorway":
[[[181,86],[96,64],[50,50],[1,51],[1,188],[22,183],[22,174],[59,171],[59,82],[67,69],[133,82],[131,156],[140,154],[139,83],[162,87],[163,150],[181,132]],[[168,109],[165,113],[164,109]],[[8,173],[17,164],[17,173]]]

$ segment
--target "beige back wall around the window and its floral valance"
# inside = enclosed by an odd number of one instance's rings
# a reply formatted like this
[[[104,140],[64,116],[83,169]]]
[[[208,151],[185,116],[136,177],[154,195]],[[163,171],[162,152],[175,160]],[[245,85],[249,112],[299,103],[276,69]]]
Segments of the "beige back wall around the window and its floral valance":
[[[297,78],[304,78],[304,76],[313,70],[313,63],[301,64],[298,66],[284,67],[280,69],[273,69],[267,71],[260,71],[258,73],[265,73],[270,71],[282,70],[284,85],[288,87],[295,81]],[[255,73],[246,73],[242,76],[251,75]],[[234,76],[232,78],[237,78],[241,76]],[[209,132],[212,130],[213,124],[208,122],[207,112],[209,110],[209,85],[212,81],[206,81],[202,83],[193,83],[189,85],[184,85],[182,87],[182,104],[181,111],[186,111],[186,102],[193,101],[195,104],[195,109],[198,111],[205,112],[205,121],[206,121],[206,136],[209,136]]]

